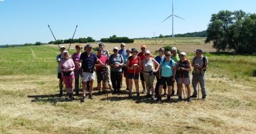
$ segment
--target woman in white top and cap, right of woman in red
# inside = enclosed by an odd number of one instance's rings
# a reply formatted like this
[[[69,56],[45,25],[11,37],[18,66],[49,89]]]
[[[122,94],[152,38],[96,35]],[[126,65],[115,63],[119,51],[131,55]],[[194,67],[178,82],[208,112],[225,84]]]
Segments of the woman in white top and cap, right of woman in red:
[[[146,50],[145,52],[145,59],[141,61],[141,66],[143,66],[143,77],[145,79],[146,89],[147,89],[147,97],[151,97],[154,100],[154,79],[156,72],[159,69],[159,63],[150,57],[150,51]],[[156,68],[156,70],[154,69]],[[151,89],[151,96],[150,96],[150,89]]]

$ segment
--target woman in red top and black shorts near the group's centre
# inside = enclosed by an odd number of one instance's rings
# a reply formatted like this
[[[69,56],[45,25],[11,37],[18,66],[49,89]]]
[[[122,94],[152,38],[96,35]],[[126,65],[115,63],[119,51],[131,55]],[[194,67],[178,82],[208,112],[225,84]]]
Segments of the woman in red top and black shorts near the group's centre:
[[[132,48],[132,56],[127,58],[127,78],[129,79],[129,97],[132,96],[132,79],[136,87],[137,97],[140,98],[139,91],[139,73],[140,73],[140,57],[137,56],[138,51]]]

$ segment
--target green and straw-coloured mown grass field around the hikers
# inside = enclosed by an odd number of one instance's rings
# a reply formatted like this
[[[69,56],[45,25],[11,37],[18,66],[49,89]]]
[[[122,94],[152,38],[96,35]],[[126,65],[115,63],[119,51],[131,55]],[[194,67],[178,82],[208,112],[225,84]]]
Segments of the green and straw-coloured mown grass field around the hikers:
[[[193,52],[197,46],[178,48]],[[77,96],[74,101],[58,97],[57,47],[0,48],[0,54],[0,133],[256,133],[255,56],[205,54],[205,101],[155,103],[127,94],[109,94],[106,100],[95,91],[95,100],[80,103]]]

